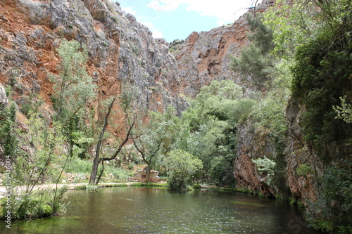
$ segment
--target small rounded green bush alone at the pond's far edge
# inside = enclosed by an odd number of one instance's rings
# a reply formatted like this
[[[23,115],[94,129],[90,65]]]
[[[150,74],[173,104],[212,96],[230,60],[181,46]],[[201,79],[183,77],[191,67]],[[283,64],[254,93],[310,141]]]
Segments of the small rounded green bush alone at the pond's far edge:
[[[172,150],[165,158],[165,167],[168,170],[168,183],[171,190],[186,188],[187,181],[192,174],[203,168],[201,160],[183,150]]]

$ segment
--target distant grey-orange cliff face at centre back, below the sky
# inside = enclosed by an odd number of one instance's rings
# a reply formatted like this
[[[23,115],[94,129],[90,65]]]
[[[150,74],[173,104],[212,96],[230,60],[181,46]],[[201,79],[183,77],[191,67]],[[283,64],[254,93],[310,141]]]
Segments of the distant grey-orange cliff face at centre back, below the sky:
[[[274,0],[264,0],[255,11],[263,12],[274,4]],[[254,13],[254,9],[250,13]],[[249,77],[236,76],[231,70],[232,56],[239,56],[241,48],[249,42],[248,31],[245,14],[232,25],[208,32],[192,32],[183,44],[177,45],[172,54],[177,60],[182,92],[194,97],[202,86],[222,79],[231,79],[246,91],[256,89]]]

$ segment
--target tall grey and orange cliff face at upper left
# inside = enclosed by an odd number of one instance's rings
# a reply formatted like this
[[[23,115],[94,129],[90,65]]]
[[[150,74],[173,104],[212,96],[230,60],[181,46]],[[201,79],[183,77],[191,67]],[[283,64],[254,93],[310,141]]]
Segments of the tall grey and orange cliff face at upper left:
[[[177,63],[168,47],[111,0],[1,1],[0,83],[12,84],[18,103],[39,93],[50,106],[49,74],[56,73],[62,38],[87,46],[89,72],[99,98],[119,94],[122,83],[138,88],[149,110],[173,105],[180,112]]]

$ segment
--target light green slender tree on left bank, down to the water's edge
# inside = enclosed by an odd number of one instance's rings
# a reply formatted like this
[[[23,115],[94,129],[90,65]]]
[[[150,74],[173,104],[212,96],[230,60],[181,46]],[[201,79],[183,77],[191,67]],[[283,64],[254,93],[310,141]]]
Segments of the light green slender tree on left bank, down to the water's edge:
[[[67,188],[34,190],[44,178],[51,181],[60,178],[58,169],[52,164],[59,164],[65,156],[65,138],[61,129],[60,124],[54,122],[49,126],[38,113],[30,113],[27,129],[16,126],[13,131],[12,136],[18,142],[18,157],[11,157],[13,219],[37,219],[64,212]]]

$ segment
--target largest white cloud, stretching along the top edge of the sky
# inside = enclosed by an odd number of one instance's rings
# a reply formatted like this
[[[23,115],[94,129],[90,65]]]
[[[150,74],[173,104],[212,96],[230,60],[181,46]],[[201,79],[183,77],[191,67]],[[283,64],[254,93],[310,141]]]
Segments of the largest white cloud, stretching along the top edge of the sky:
[[[187,5],[187,11],[196,11],[200,15],[218,18],[218,25],[234,22],[246,12],[251,1],[244,0],[153,0],[147,6],[157,11],[172,11],[181,4]]]

